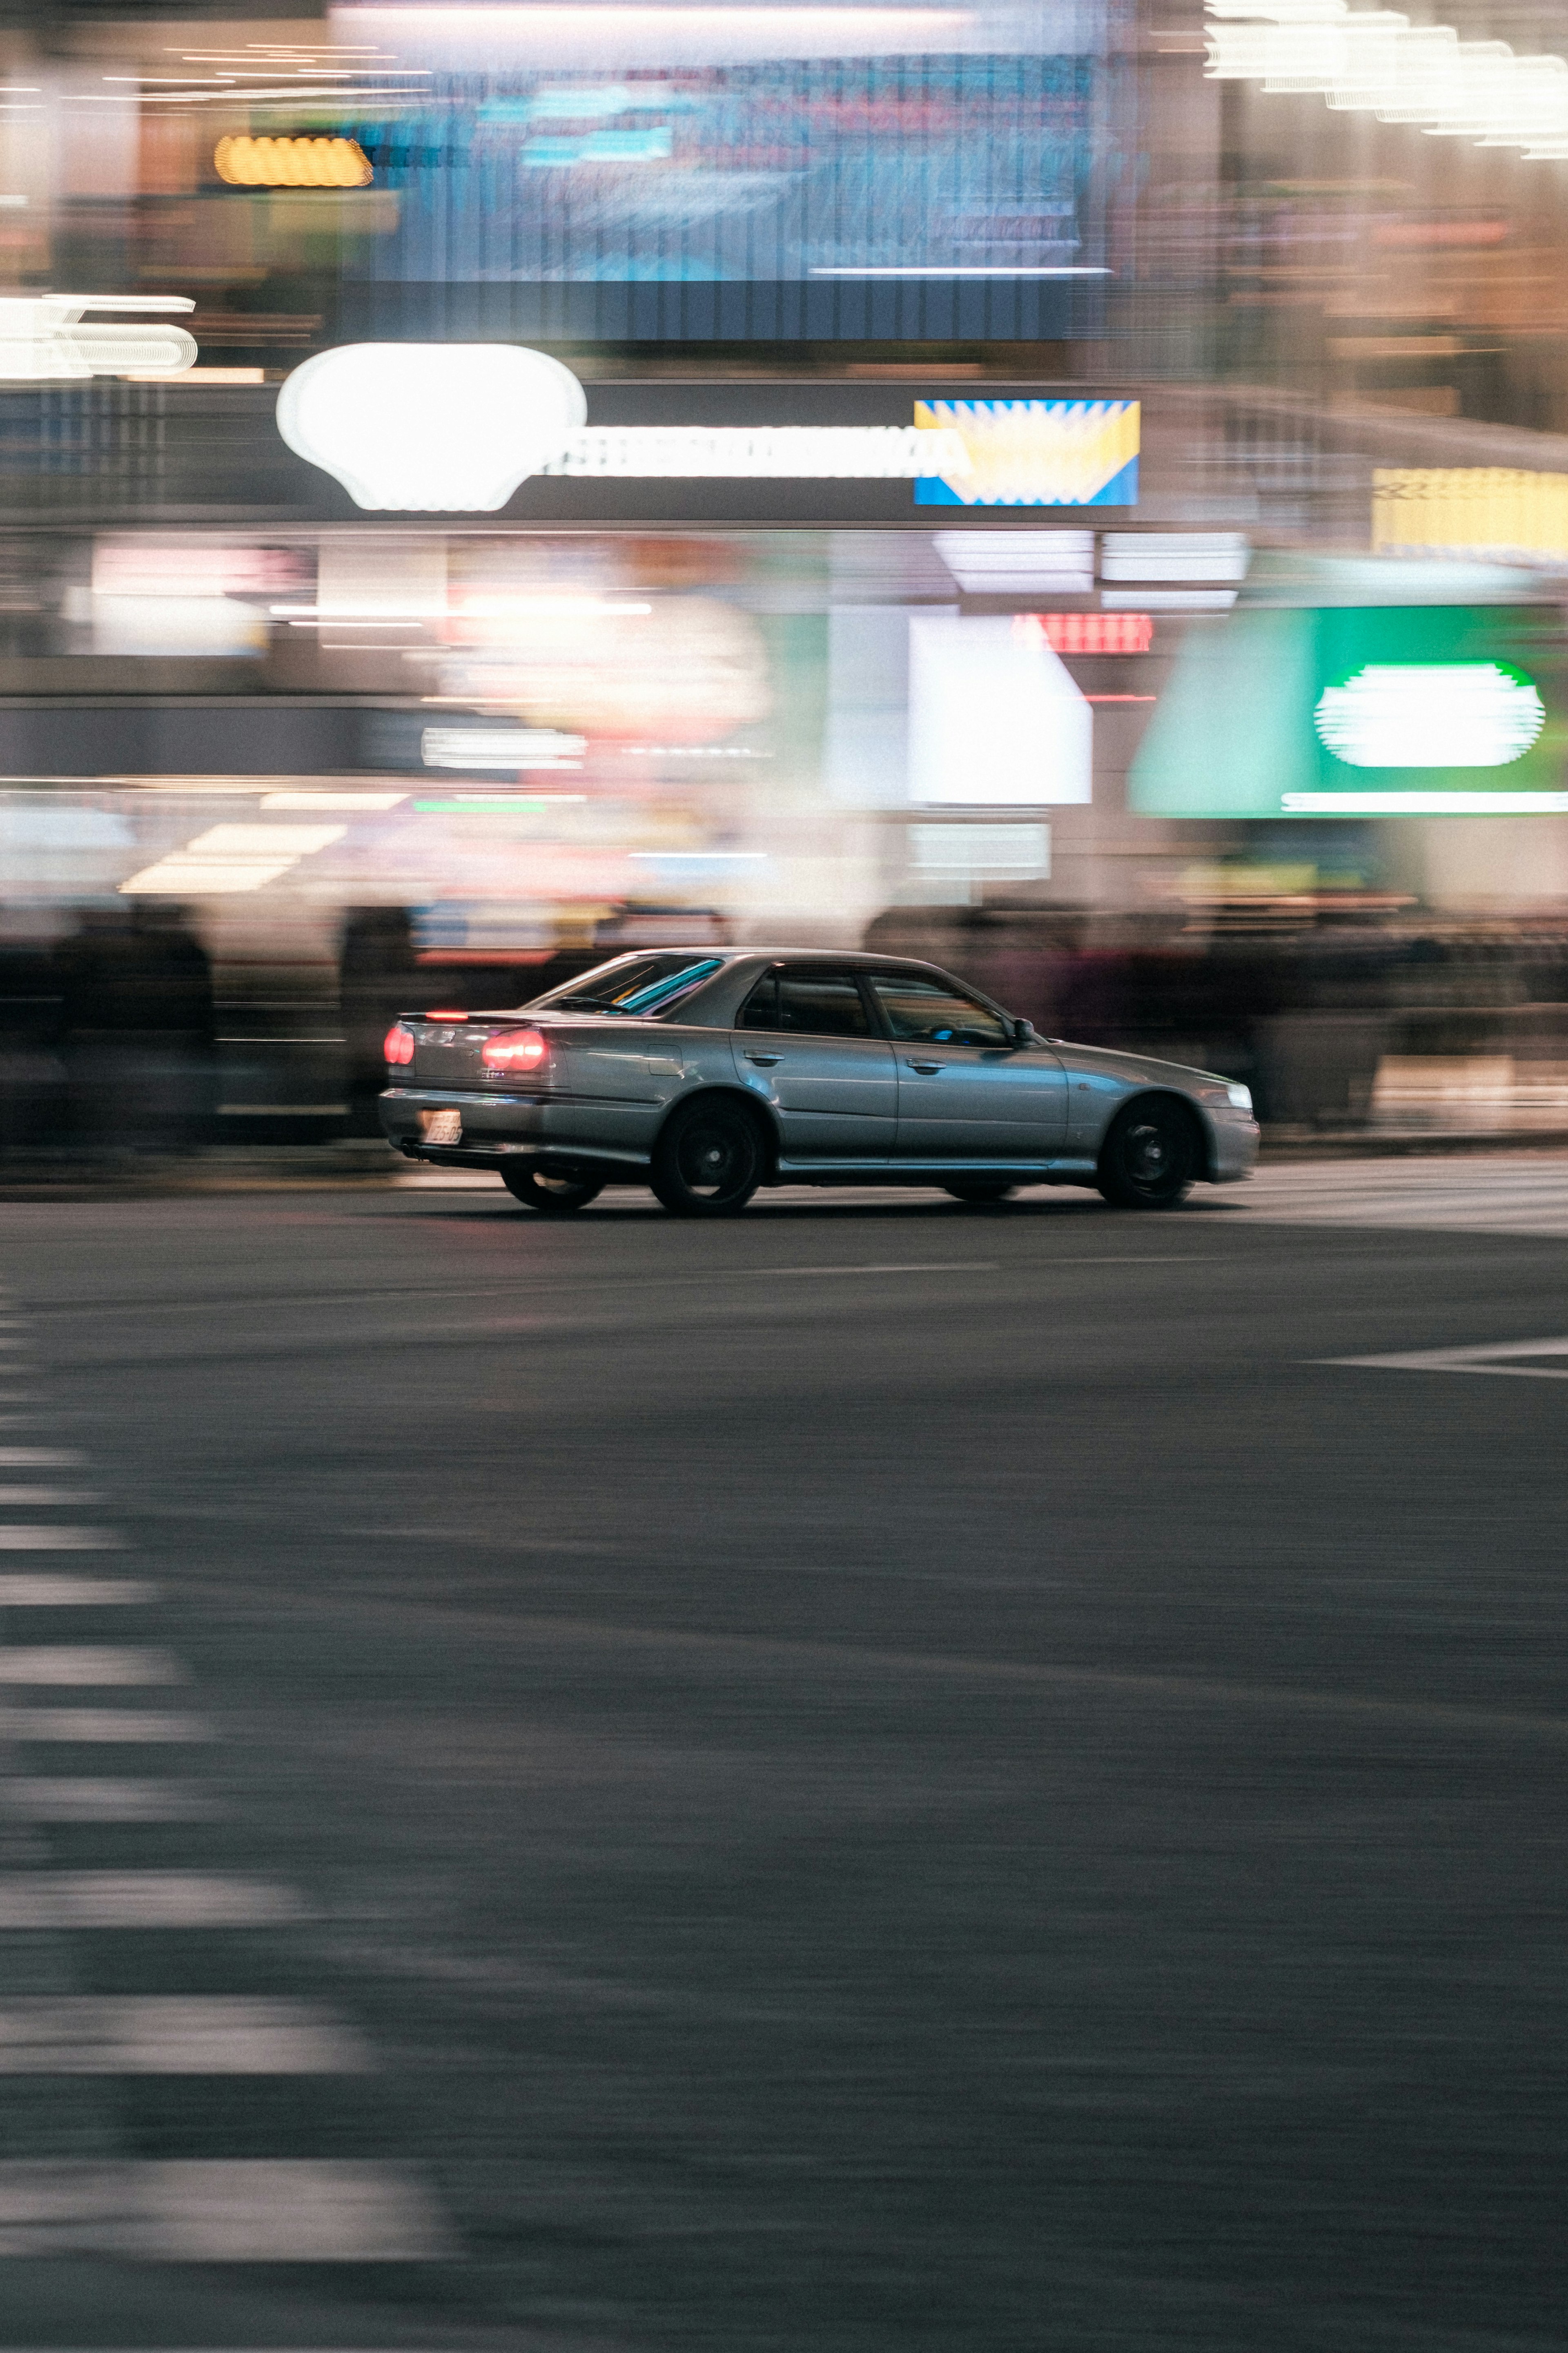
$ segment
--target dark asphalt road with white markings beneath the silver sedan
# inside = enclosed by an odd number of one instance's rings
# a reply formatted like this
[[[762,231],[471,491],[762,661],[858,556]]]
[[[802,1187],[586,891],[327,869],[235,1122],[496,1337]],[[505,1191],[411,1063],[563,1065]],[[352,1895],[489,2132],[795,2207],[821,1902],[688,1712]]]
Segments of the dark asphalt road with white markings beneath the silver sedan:
[[[1563,1162],[0,1282],[2,2346],[1563,2346]]]

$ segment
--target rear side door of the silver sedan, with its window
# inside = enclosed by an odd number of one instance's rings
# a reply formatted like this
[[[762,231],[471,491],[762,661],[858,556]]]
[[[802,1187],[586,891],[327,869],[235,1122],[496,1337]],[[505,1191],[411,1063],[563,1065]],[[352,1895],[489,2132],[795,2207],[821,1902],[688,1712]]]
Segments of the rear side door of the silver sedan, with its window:
[[[736,1019],[736,1071],[778,1120],[783,1160],[891,1160],[893,1047],[853,972],[773,965]]]

